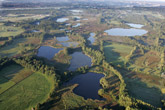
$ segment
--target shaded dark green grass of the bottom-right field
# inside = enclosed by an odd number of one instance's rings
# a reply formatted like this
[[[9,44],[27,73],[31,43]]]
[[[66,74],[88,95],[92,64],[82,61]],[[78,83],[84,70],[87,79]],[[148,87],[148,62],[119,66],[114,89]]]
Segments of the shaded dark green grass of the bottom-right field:
[[[143,100],[153,106],[161,107],[161,91],[155,87],[148,87],[137,79],[127,79],[127,89],[132,97]]]

